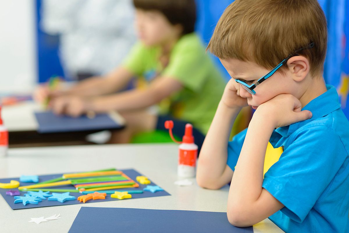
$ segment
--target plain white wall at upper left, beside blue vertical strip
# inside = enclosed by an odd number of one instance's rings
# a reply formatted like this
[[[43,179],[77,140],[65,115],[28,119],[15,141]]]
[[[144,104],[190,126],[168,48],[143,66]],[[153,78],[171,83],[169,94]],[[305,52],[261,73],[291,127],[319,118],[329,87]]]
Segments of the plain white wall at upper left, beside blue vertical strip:
[[[0,92],[21,92],[36,83],[34,0],[0,1]]]

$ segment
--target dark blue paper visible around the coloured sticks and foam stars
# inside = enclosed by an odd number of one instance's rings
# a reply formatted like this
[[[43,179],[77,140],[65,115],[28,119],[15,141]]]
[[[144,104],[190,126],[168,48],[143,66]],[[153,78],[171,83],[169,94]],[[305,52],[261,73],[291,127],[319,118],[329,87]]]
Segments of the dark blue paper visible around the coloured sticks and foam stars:
[[[131,178],[132,180],[136,181],[136,176],[142,175],[141,173],[133,170],[133,169],[127,169],[127,170],[120,170],[122,172],[125,173],[125,175],[127,175],[129,178]],[[54,178],[58,178],[58,177],[62,177],[63,174],[53,174],[53,175],[39,175],[39,182],[43,182],[46,180],[51,180]],[[151,178],[149,178],[151,180]],[[10,180],[17,180],[19,181],[19,178],[6,178],[6,179],[0,179],[0,183],[9,183]],[[23,183],[20,182],[21,186],[27,186],[27,185],[35,185],[35,183]],[[151,182],[150,185],[156,185],[155,183]],[[141,185],[139,184],[139,188],[124,188],[124,189],[118,189],[118,191],[124,191],[124,190],[143,190],[143,188],[147,187],[147,185]],[[47,187],[47,188],[53,188],[53,189],[75,189],[74,186],[72,185],[65,185],[65,186],[58,186],[58,187]],[[10,196],[10,195],[6,195],[6,191],[9,191],[10,189],[2,189],[0,188],[0,194],[2,195],[2,197],[5,199],[5,201],[8,203],[8,205],[13,209],[13,210],[17,210],[17,209],[28,209],[28,208],[37,208],[37,207],[44,207],[44,206],[56,206],[56,205],[74,205],[74,204],[82,204],[83,202],[77,201],[77,197],[82,196],[84,194],[82,193],[70,193],[69,195],[71,196],[75,196],[76,200],[72,200],[72,201],[66,201],[66,202],[58,202],[58,201],[49,201],[49,200],[42,200],[42,202],[39,202],[38,204],[27,204],[27,205],[23,205],[23,204],[14,204],[14,197]],[[18,189],[11,189],[11,190],[18,190]],[[18,196],[24,196],[24,194],[27,194],[27,192],[24,191],[20,191],[21,194]],[[99,191],[101,193],[103,193],[103,190]],[[51,193],[50,193],[51,194]],[[128,201],[128,200],[132,200],[135,198],[143,198],[143,197],[159,197],[159,196],[168,196],[170,195],[168,192],[166,191],[158,191],[156,193],[151,193],[148,191],[145,191],[141,194],[132,194],[132,198],[130,199],[126,199],[126,200],[119,200],[117,198],[111,198],[110,194],[108,194],[105,197],[105,200],[103,199],[98,199],[98,200],[89,200],[86,203],[91,203],[91,202],[105,202],[105,201]]]

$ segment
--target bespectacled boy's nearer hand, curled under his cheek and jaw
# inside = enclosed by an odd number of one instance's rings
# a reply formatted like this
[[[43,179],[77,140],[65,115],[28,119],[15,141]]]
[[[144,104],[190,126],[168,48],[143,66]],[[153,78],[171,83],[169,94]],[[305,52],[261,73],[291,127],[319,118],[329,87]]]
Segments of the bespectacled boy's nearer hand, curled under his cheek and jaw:
[[[266,121],[272,121],[275,128],[288,126],[312,117],[312,113],[303,110],[299,99],[289,94],[280,94],[261,104],[254,115]]]

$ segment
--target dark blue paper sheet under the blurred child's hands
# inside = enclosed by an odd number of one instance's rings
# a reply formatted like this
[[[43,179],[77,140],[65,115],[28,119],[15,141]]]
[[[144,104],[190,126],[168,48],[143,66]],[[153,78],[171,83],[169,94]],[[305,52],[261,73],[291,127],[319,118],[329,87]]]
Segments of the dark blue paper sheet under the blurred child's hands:
[[[58,116],[53,112],[36,112],[39,133],[58,133],[122,128],[123,125],[111,119],[108,114],[96,114],[95,118],[82,115],[77,118]]]

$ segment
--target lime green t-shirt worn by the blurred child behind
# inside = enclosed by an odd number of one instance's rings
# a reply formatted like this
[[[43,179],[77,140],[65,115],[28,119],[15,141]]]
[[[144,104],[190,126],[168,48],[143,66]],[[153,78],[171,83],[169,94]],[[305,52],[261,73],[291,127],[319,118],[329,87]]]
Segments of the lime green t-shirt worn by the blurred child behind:
[[[206,134],[222,97],[225,82],[195,33],[174,45],[168,65],[159,61],[160,47],[137,43],[123,66],[139,77],[140,88],[155,77],[175,78],[183,89],[159,104],[161,114],[188,121]]]

